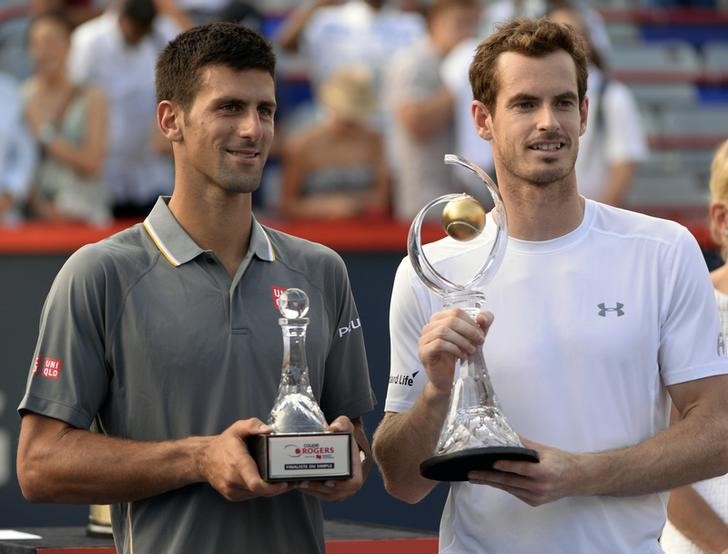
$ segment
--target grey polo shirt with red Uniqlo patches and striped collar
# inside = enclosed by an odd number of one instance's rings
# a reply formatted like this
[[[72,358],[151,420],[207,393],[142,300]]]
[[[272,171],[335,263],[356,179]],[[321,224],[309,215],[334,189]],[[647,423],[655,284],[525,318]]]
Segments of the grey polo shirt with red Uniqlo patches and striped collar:
[[[277,297],[308,293],[311,387],[328,421],[374,398],[341,258],[253,221],[233,278],[160,199],[143,224],[75,252],[43,307],[19,410],[134,440],[266,420],[280,380]],[[127,552],[324,552],[319,502],[292,491],[228,502],[207,484],[112,508]]]

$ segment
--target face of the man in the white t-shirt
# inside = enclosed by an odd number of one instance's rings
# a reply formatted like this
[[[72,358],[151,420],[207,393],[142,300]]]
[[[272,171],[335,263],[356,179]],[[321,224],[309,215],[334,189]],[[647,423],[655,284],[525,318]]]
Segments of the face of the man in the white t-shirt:
[[[497,75],[495,112],[481,117],[479,132],[491,141],[499,177],[537,185],[563,180],[574,170],[587,116],[571,56],[563,50],[541,58],[505,52]]]

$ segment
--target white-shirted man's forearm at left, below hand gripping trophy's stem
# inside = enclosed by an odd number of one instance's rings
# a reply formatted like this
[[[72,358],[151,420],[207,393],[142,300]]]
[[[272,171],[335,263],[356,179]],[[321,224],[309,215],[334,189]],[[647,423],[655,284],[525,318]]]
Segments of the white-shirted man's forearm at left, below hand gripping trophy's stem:
[[[420,463],[432,455],[447,415],[448,397],[429,383],[414,406],[387,413],[374,433],[374,457],[387,491],[405,502],[424,498],[435,482],[420,475]]]

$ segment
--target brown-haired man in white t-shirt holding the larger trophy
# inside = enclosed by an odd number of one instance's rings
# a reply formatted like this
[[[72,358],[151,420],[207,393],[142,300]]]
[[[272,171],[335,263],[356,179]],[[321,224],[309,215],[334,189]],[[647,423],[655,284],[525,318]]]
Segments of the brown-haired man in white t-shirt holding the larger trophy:
[[[566,27],[505,25],[479,46],[471,75],[510,240],[475,321],[443,310],[408,261],[399,268],[374,437],[385,487],[411,503],[432,490],[419,465],[455,362],[485,343],[503,412],[540,462],[501,460],[453,483],[440,552],[661,552],[662,491],[728,471],[728,360],[706,264],[677,223],[578,193],[587,59]],[[465,282],[493,235],[490,222],[471,242],[432,245],[429,258]],[[683,419],[668,428],[670,400]]]

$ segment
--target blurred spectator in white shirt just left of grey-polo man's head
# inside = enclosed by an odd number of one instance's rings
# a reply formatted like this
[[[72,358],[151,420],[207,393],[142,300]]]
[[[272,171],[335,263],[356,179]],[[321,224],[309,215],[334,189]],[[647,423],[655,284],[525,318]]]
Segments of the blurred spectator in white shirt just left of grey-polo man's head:
[[[108,100],[103,176],[117,217],[143,216],[172,190],[171,157],[154,126],[154,64],[178,31],[157,17],[152,0],[122,0],[72,36],[72,80],[100,88]]]

